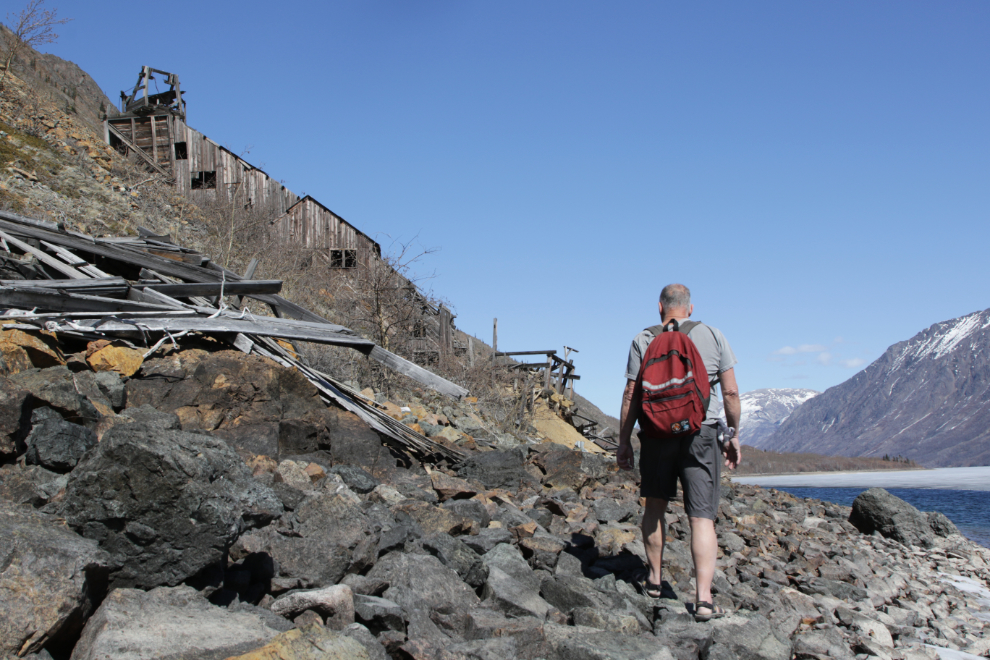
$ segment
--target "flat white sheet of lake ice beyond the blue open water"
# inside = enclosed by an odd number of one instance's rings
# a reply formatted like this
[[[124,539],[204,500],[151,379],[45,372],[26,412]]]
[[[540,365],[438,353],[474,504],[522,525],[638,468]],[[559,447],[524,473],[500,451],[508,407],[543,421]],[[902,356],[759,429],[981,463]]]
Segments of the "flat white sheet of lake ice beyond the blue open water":
[[[745,460],[745,453],[743,455]],[[815,472],[732,477],[740,484],[772,488],[937,488],[990,490],[990,466],[881,472]]]

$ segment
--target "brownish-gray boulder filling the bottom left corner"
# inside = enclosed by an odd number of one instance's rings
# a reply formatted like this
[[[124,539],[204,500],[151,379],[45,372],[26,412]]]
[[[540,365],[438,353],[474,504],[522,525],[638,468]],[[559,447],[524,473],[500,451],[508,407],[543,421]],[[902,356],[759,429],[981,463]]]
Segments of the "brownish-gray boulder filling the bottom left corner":
[[[0,657],[66,653],[106,590],[110,558],[58,519],[0,500]]]

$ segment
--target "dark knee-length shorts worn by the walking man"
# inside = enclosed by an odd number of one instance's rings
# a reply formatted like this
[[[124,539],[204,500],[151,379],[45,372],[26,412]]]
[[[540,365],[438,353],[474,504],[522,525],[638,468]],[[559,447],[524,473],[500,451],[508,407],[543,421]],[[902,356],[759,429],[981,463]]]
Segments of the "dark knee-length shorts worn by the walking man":
[[[721,467],[714,426],[702,425],[698,433],[683,440],[641,440],[640,497],[672,500],[680,477],[684,511],[694,518],[715,520]]]

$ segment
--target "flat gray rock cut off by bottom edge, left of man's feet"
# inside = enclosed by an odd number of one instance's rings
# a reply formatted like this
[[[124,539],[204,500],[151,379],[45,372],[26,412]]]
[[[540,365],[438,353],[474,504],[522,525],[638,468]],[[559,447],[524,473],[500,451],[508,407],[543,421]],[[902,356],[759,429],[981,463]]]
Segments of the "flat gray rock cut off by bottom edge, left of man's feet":
[[[547,641],[567,660],[674,660],[660,640],[630,636],[584,626],[544,626]]]

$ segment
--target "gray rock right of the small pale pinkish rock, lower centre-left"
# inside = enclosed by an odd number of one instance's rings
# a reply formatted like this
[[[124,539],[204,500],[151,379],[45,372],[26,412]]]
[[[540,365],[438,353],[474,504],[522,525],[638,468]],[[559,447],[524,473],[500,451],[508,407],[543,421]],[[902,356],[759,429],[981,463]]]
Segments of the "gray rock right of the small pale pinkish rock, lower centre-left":
[[[457,573],[431,555],[391,552],[378,560],[368,577],[387,581],[385,598],[406,612],[422,608],[444,613],[466,611],[479,602]]]

